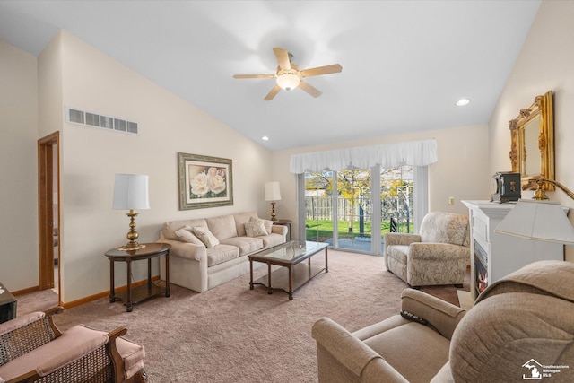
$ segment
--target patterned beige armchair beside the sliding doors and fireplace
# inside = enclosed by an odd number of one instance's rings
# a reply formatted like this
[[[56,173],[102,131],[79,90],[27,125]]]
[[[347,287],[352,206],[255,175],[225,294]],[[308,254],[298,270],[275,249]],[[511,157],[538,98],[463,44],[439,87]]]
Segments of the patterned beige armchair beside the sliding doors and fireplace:
[[[424,216],[420,234],[385,234],[387,270],[410,286],[457,284],[462,287],[470,262],[468,217],[432,212]]]

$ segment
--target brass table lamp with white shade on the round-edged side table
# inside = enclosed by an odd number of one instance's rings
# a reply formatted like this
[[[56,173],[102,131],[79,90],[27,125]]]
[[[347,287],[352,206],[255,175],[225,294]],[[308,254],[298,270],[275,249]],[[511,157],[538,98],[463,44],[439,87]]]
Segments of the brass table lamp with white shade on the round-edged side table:
[[[137,243],[139,234],[135,231],[135,210],[150,208],[148,196],[148,176],[141,174],[116,174],[116,184],[114,186],[114,202],[112,209],[129,210],[126,215],[130,218],[129,231],[127,232],[128,242],[126,246],[118,250],[137,250],[145,245]]]

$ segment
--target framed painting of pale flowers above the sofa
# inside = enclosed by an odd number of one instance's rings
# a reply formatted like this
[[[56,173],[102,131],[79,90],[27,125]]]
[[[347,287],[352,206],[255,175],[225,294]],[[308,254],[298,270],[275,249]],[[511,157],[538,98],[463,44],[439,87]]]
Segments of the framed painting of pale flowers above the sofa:
[[[179,210],[233,205],[231,160],[178,153]]]

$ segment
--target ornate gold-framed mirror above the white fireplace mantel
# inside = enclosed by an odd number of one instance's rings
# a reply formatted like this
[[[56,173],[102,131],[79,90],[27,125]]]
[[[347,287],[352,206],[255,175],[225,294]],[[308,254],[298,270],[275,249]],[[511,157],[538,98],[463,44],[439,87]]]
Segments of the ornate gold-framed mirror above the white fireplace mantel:
[[[510,162],[512,171],[520,173],[523,188],[532,178],[554,179],[552,119],[552,91],[548,91],[536,96],[530,108],[521,109],[518,117],[509,121]],[[550,184],[544,184],[544,188],[554,189]]]

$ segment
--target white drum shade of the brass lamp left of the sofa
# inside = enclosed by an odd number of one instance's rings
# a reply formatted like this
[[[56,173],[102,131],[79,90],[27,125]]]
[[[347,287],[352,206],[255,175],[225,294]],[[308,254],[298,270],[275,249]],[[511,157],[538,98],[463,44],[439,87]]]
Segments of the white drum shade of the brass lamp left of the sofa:
[[[116,174],[113,209],[143,210],[150,208],[148,176]]]

